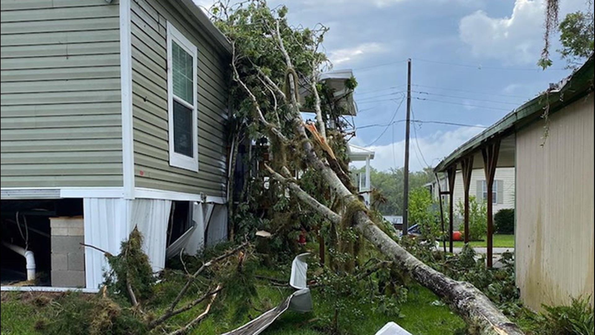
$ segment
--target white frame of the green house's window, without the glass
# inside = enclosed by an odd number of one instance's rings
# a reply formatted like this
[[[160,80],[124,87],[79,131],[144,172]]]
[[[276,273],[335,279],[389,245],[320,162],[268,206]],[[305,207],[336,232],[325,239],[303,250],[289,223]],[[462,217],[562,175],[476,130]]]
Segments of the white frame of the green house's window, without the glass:
[[[176,42],[184,51],[192,55],[192,77],[193,86],[192,100],[193,106],[183,99],[174,95],[173,89],[173,61],[172,61],[172,43]],[[182,33],[176,29],[169,21],[167,22],[167,111],[168,111],[168,129],[169,129],[169,147],[170,147],[170,165],[177,168],[198,172],[198,49]],[[192,108],[192,148],[193,157],[174,151],[174,99],[188,108]]]

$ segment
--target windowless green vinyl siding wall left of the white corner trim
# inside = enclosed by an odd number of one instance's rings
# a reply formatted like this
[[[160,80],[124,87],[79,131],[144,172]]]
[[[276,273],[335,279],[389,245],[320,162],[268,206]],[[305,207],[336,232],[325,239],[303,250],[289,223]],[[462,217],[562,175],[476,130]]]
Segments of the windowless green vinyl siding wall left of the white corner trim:
[[[122,186],[118,2],[0,2],[2,187]]]

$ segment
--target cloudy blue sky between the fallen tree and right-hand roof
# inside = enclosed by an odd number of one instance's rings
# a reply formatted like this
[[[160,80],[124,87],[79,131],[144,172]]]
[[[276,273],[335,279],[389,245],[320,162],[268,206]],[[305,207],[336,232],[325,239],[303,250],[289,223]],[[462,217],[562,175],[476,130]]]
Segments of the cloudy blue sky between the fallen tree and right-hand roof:
[[[209,7],[211,0],[195,0]],[[285,0],[295,26],[329,27],[324,49],[334,70],[358,81],[357,131],[350,143],[375,151],[371,166],[404,162],[407,60],[412,60],[410,170],[443,157],[571,70],[555,51],[537,67],[544,0]],[[560,18],[585,10],[560,1]],[[447,124],[450,123],[450,124]],[[357,164],[355,164],[358,166]]]

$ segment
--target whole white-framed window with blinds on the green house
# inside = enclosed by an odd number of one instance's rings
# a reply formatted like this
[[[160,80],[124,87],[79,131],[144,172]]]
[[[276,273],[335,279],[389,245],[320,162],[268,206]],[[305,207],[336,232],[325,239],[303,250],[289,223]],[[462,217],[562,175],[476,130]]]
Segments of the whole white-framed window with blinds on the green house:
[[[167,23],[170,165],[198,171],[197,49]]]

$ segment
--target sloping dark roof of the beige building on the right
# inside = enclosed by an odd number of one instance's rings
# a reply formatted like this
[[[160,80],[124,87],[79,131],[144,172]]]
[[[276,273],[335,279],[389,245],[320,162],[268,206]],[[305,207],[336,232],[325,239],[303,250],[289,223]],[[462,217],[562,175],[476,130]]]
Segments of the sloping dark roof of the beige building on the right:
[[[511,113],[506,114],[505,117],[491,125],[490,128],[456,148],[434,168],[434,172],[443,172],[449,166],[457,164],[462,157],[474,154],[475,151],[493,139],[507,137],[519,129],[537,122],[541,119],[544,108],[548,104],[549,113],[555,113],[592,91],[593,54],[580,69],[575,70],[572,75],[563,79],[558,85],[550,85],[547,91],[515,108]]]

